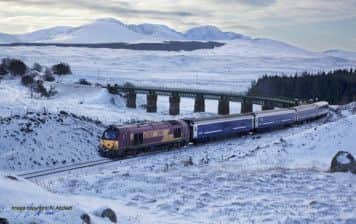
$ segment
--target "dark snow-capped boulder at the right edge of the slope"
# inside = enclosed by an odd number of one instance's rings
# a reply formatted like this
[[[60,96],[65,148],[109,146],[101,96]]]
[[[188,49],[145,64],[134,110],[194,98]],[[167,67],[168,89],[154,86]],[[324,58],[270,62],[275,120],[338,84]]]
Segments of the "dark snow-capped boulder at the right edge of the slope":
[[[349,152],[337,152],[331,161],[330,172],[352,172],[356,174],[355,158]]]

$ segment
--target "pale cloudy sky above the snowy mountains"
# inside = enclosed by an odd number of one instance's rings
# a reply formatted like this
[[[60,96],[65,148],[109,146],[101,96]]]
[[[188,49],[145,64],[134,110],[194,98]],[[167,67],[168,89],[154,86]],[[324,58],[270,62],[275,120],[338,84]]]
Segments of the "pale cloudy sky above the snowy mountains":
[[[0,32],[79,26],[112,17],[178,31],[215,25],[309,50],[356,51],[356,0],[0,0]]]

